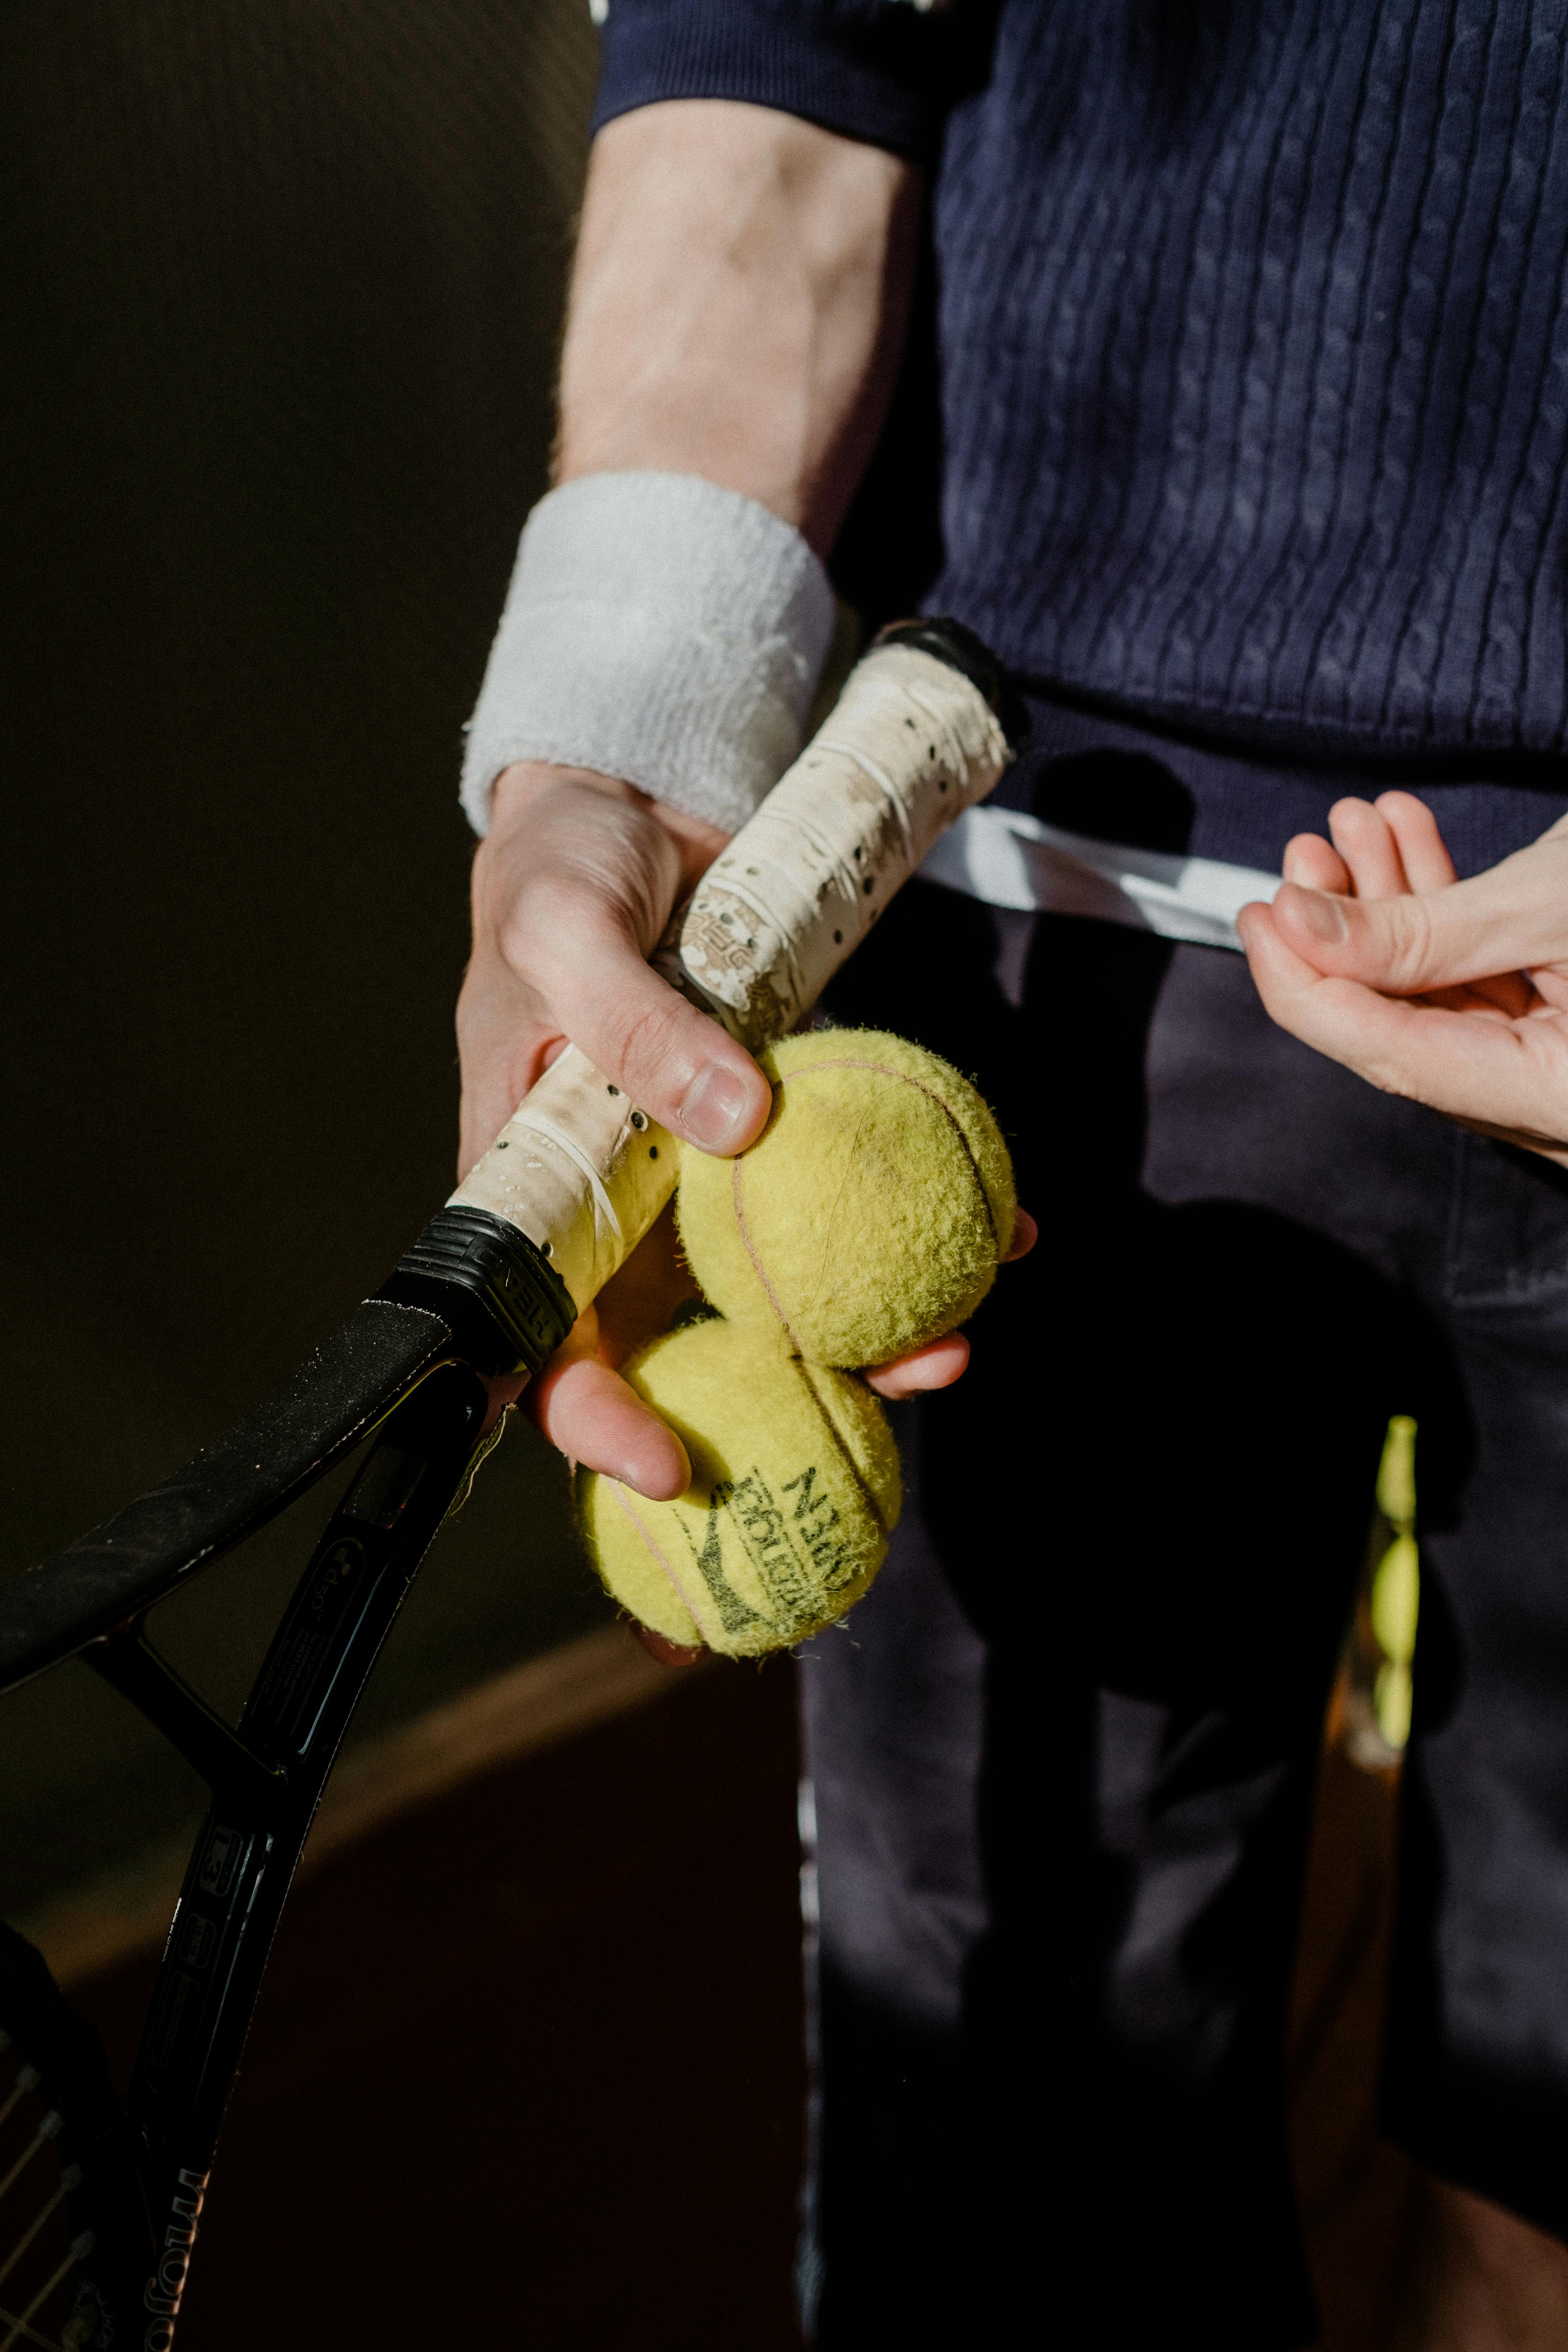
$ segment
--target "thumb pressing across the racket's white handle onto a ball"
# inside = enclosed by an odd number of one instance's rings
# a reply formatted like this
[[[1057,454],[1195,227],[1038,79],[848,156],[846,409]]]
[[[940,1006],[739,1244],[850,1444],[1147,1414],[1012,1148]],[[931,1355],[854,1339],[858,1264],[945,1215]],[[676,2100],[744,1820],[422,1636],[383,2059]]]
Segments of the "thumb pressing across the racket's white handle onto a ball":
[[[649,1117],[703,1152],[743,1152],[773,1094],[736,1040],[686,1004],[614,924],[578,931],[548,971],[550,1011]]]

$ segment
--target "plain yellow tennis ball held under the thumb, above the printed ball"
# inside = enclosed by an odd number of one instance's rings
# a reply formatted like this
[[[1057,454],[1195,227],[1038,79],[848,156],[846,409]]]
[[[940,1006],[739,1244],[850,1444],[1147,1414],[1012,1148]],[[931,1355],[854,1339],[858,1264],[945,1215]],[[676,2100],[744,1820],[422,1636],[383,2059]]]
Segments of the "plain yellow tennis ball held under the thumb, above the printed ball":
[[[882,1030],[785,1037],[762,1068],[773,1115],[757,1143],[682,1157],[682,1249],[705,1296],[811,1364],[886,1364],[954,1331],[1013,1240],[990,1108]]]

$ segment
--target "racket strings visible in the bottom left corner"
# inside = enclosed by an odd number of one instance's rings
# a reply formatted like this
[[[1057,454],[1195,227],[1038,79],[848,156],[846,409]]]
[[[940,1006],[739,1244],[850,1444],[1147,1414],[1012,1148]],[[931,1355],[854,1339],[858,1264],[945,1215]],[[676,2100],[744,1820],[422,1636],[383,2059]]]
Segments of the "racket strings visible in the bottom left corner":
[[[85,2352],[99,2312],[75,2305],[73,2270],[92,2253],[92,2230],[71,2232],[68,2201],[80,2164],[59,2161],[63,2117],[45,2105],[35,2065],[0,2032],[14,2074],[0,2096],[0,2352]]]

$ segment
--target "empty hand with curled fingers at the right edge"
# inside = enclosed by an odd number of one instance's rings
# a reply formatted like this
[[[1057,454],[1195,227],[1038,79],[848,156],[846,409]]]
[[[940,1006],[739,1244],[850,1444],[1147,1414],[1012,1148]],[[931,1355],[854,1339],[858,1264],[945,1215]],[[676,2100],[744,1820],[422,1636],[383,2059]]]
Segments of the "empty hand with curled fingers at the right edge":
[[[1333,1061],[1568,1167],[1568,818],[1458,882],[1413,793],[1340,800],[1239,931],[1267,1011]]]

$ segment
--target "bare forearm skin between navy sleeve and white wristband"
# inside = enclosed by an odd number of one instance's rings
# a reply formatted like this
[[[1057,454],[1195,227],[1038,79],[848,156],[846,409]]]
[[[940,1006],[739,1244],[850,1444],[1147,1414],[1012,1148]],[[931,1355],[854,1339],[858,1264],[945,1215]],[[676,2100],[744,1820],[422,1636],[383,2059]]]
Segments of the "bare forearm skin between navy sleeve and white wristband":
[[[898,369],[919,202],[914,165],[764,106],[693,99],[607,125],[557,480],[696,473],[825,555]]]

